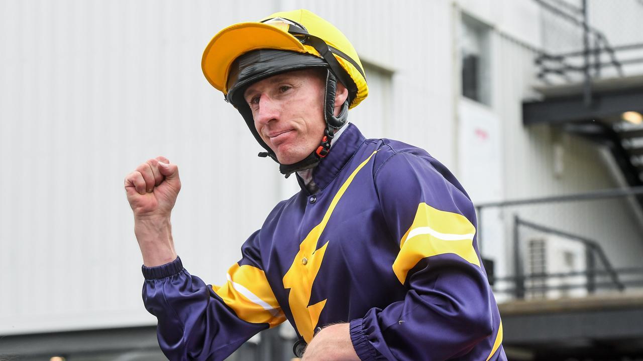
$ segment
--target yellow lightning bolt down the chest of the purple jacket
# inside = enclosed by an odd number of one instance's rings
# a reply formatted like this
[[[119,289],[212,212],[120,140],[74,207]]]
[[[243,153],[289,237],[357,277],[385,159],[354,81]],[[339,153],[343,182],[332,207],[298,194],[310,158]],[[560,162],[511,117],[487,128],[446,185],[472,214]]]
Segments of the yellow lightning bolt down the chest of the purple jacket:
[[[368,163],[376,152],[377,150],[359,164],[358,168],[356,168],[344,184],[341,185],[340,190],[338,190],[335,197],[332,198],[331,205],[321,219],[320,224],[316,225],[302,243],[300,243],[299,252],[294,256],[293,265],[291,265],[284,276],[284,288],[290,288],[288,303],[290,304],[291,312],[293,312],[294,323],[306,342],[311,342],[312,336],[314,335],[314,327],[317,325],[317,322],[319,322],[321,310],[323,310],[323,306],[326,304],[326,300],[324,299],[323,301],[308,306],[308,303],[311,301],[312,283],[314,283],[315,277],[317,277],[317,273],[320,270],[321,261],[323,260],[323,255],[328,245],[328,242],[326,242],[320,249],[316,250],[317,242],[329,218],[331,218],[332,211],[334,211],[335,206],[340,201],[346,189],[349,188],[350,182],[353,181],[359,170]]]

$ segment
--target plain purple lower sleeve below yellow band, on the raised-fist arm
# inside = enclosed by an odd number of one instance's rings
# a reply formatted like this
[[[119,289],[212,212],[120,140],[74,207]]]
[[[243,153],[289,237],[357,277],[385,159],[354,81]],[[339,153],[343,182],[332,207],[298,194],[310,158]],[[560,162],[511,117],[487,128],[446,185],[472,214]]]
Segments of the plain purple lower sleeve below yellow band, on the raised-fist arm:
[[[223,360],[268,324],[242,321],[181,260],[143,266],[143,303],[158,319],[159,346],[170,360]]]

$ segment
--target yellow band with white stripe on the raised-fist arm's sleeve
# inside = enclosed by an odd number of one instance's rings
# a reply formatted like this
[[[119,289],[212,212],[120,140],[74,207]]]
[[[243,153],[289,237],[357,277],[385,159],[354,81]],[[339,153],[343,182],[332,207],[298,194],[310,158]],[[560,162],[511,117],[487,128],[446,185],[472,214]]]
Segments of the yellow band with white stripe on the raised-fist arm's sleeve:
[[[267,323],[272,328],[285,321],[266,274],[257,267],[235,263],[228,270],[228,282],[212,289],[246,322]]]

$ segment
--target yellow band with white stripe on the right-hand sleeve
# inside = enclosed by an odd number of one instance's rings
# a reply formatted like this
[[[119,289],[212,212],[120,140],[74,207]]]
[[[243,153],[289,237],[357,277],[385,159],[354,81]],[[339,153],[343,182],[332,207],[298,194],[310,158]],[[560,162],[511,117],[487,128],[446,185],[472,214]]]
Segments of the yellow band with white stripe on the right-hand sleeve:
[[[413,224],[400,240],[400,252],[393,263],[395,276],[404,284],[408,271],[424,258],[438,254],[457,254],[480,267],[473,249],[476,229],[458,213],[440,211],[422,202],[417,207]]]

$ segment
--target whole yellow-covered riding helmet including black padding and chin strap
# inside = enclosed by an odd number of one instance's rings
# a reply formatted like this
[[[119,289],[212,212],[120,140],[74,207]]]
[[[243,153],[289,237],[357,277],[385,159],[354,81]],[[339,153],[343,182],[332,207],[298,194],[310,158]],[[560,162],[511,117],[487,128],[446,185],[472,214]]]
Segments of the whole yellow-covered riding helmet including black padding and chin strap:
[[[223,92],[246,121],[257,142],[266,149],[259,155],[279,163],[275,152],[261,139],[252,112],[243,99],[249,85],[269,76],[308,68],[326,69],[323,115],[326,129],[320,146],[295,164],[281,164],[288,177],[293,172],[312,168],[325,157],[334,132],[345,125],[349,108],[368,95],[364,69],[355,48],[340,30],[308,10],[273,13],[259,22],[240,22],[215,35],[203,52],[203,74],[213,87]],[[349,96],[334,115],[338,80]]]

